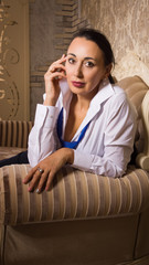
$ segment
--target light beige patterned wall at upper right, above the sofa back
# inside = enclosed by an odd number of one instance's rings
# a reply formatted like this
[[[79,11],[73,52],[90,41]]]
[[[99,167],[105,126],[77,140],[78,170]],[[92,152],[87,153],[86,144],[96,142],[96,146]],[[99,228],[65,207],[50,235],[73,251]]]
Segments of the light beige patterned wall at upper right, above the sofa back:
[[[82,17],[108,36],[117,62],[132,51],[149,66],[149,0],[82,0]]]

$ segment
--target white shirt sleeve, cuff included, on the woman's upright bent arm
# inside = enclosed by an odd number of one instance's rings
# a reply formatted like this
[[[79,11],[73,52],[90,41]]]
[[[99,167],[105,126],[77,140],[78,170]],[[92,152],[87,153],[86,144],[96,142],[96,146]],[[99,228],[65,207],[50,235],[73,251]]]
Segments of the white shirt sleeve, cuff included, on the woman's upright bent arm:
[[[55,124],[57,115],[57,107],[38,104],[28,147],[28,158],[32,167],[56,150]]]

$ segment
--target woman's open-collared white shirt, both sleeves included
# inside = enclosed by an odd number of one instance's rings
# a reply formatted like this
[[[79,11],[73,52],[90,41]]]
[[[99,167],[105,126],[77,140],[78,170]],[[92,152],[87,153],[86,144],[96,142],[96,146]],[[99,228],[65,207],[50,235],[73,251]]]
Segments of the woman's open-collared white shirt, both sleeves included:
[[[63,107],[63,136],[68,117],[72,92],[66,81],[61,82],[56,106],[38,104],[34,126],[29,136],[29,161],[32,167],[61,148],[56,121]],[[125,173],[134,150],[137,114],[123,88],[100,85],[92,99],[86,117],[72,141],[76,141],[89,121],[84,138],[74,150],[72,167],[108,177]],[[62,136],[62,137],[63,137]]]

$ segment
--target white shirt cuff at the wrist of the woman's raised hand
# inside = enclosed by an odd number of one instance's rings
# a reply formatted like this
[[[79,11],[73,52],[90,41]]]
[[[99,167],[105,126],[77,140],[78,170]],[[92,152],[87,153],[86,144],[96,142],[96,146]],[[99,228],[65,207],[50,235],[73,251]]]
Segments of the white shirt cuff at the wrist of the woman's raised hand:
[[[44,126],[49,128],[54,128],[58,116],[58,108],[55,106],[44,106],[38,104],[35,112],[34,124],[38,127]]]

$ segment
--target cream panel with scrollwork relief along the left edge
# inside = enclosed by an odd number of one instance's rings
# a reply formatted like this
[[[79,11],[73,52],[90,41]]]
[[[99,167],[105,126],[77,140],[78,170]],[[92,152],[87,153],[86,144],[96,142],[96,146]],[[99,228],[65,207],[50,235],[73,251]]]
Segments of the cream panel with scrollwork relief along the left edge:
[[[28,81],[24,60],[29,62],[29,59],[24,56],[22,35],[25,32],[21,31],[24,23],[20,24],[25,6],[26,2],[18,0],[0,2],[0,119],[28,119],[24,105],[29,105],[29,86],[24,83],[25,78]]]

